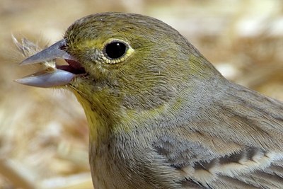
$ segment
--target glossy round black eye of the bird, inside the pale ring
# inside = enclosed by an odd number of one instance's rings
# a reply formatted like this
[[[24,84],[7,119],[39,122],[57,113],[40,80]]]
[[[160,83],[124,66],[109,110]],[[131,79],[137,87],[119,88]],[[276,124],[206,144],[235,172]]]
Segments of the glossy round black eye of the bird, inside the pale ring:
[[[117,59],[125,55],[126,45],[123,42],[111,42],[105,47],[105,53],[110,59]]]

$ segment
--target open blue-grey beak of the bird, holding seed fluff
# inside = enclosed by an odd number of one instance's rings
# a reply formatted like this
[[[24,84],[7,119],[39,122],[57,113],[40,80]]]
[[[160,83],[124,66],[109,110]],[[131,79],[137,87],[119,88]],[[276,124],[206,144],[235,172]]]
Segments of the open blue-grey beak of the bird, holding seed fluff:
[[[21,65],[36,64],[40,62],[48,62],[54,59],[65,59],[69,65],[57,66],[55,69],[46,69],[39,71],[22,79],[16,79],[16,82],[28,86],[52,87],[64,86],[70,83],[78,74],[85,74],[85,70],[76,59],[69,55],[63,48],[66,46],[66,40],[60,40],[45,50],[37,52],[35,55],[24,59]]]

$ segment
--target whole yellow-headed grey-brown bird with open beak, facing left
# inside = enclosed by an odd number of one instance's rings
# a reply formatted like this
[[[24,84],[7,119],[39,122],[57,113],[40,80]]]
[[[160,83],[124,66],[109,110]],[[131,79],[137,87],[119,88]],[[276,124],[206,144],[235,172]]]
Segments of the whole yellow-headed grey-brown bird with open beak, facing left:
[[[283,188],[283,103],[222,76],[177,30],[97,13],[21,62],[21,84],[68,88],[89,126],[95,188]]]

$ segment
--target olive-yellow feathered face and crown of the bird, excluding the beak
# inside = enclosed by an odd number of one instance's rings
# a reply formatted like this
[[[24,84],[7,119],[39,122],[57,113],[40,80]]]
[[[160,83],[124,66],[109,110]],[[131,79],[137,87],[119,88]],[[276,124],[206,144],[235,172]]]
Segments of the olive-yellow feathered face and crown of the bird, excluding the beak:
[[[175,96],[174,85],[185,85],[188,78],[189,54],[180,45],[189,43],[154,18],[125,13],[87,16],[71,25],[64,38],[64,50],[86,71],[70,85],[119,103],[115,107],[156,108]]]

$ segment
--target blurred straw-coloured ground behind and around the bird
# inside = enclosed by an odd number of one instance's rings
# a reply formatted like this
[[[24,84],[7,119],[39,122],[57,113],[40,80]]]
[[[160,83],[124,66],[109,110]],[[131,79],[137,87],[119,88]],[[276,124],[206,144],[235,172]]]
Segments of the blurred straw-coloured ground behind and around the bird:
[[[104,11],[172,25],[226,78],[283,101],[283,1],[0,0],[0,188],[93,188],[81,106],[68,91],[13,81],[35,68],[18,66],[11,33],[45,47]]]

